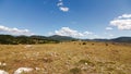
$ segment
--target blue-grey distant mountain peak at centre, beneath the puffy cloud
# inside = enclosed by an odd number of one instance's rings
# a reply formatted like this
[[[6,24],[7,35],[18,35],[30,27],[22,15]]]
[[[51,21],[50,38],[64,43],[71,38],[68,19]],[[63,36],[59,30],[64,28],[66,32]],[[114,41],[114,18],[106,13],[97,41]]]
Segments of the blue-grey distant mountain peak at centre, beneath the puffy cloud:
[[[59,40],[59,41],[71,41],[71,40],[76,40],[75,38],[72,38],[72,37],[59,36],[59,35],[49,36],[48,38],[53,39],[53,40]]]

